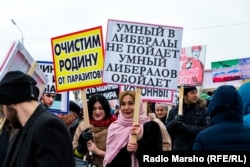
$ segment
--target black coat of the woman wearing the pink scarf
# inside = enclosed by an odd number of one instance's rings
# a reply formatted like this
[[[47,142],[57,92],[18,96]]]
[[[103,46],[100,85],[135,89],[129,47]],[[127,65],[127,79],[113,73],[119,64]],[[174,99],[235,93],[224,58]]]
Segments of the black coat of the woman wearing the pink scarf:
[[[160,153],[162,151],[162,135],[159,125],[149,121],[143,125],[143,136],[138,141],[138,150],[135,155],[139,166],[143,166],[143,155],[147,153]],[[107,153],[108,154],[108,153]],[[127,145],[123,147],[107,167],[130,167],[131,158]]]

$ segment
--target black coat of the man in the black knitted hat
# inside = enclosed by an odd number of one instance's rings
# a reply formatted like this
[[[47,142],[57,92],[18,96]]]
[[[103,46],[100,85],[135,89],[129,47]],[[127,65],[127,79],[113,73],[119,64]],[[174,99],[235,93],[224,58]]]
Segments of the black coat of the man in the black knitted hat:
[[[4,167],[74,167],[69,131],[41,104],[10,141]]]

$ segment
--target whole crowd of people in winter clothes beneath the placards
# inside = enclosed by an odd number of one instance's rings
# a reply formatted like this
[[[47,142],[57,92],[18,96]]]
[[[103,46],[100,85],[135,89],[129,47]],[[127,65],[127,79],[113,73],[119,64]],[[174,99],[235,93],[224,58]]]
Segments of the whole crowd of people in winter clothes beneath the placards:
[[[95,94],[88,121],[74,101],[66,115],[48,112],[55,96],[38,99],[36,84],[20,71],[0,81],[0,167],[138,167],[150,152],[250,151],[250,83],[219,86],[209,100],[184,87],[182,105],[148,102],[147,111],[142,102],[135,111],[135,91],[120,92],[115,112]]]

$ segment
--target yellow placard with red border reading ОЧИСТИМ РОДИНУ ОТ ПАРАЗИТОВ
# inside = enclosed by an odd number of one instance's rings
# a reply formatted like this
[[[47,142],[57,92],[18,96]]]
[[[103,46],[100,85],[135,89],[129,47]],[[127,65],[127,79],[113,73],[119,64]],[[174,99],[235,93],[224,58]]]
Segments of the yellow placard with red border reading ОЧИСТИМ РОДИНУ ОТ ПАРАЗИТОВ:
[[[102,27],[51,39],[56,91],[103,85]]]

